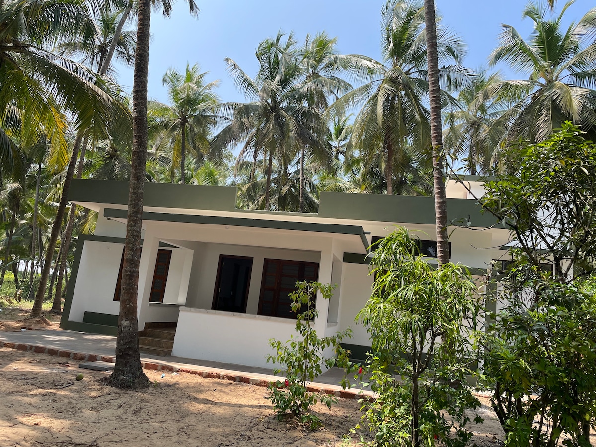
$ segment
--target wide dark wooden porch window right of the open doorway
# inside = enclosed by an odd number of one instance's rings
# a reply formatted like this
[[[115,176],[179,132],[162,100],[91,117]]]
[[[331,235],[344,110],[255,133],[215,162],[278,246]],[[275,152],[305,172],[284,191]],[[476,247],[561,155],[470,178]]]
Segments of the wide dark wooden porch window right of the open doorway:
[[[296,281],[316,281],[319,265],[315,262],[265,259],[259,297],[259,315],[296,318],[288,296],[296,290]]]

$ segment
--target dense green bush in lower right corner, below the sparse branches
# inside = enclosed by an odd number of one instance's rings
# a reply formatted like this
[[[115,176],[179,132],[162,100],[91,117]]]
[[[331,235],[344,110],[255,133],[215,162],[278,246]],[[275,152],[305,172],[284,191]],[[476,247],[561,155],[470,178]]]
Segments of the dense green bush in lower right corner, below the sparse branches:
[[[504,282],[508,305],[485,336],[484,368],[505,445],[589,446],[596,414],[593,280],[558,283],[525,265]]]

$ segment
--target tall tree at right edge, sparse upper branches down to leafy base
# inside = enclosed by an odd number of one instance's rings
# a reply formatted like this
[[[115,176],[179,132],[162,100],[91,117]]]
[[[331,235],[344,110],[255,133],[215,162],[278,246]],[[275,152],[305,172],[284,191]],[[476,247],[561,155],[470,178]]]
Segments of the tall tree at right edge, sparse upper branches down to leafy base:
[[[493,408],[511,446],[589,445],[596,409],[596,146],[567,122],[507,154],[485,210],[516,248],[508,303],[484,337]]]

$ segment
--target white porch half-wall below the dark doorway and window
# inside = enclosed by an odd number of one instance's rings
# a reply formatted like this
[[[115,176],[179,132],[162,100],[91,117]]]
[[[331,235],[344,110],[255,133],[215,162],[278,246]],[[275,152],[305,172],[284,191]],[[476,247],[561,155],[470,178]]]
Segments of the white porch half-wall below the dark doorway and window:
[[[244,313],[181,308],[172,355],[273,368],[269,339],[288,340],[295,321]]]

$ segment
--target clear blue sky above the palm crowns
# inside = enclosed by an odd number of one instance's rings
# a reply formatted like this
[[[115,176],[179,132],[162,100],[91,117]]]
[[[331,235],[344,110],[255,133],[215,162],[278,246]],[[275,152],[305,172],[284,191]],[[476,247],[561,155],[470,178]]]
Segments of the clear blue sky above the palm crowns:
[[[207,81],[219,79],[217,89],[222,101],[244,101],[226,72],[224,57],[234,59],[251,77],[256,75],[254,51],[265,38],[278,30],[293,31],[299,42],[306,35],[326,31],[337,36],[338,49],[344,54],[364,54],[380,59],[380,11],[382,0],[196,0],[200,13],[190,17],[187,4],[178,0],[169,19],[153,13],[149,57],[150,98],[167,101],[162,87],[169,67],[184,70],[187,62],[198,63],[209,71]],[[468,45],[464,64],[485,66],[496,46],[501,23],[516,27],[527,37],[532,21],[522,20],[523,0],[435,0],[443,24],[455,29]],[[564,2],[558,1],[558,8]],[[576,0],[565,14],[566,23],[577,22],[594,0]],[[519,79],[503,70],[510,79]],[[132,69],[120,67],[119,81],[128,91]]]

